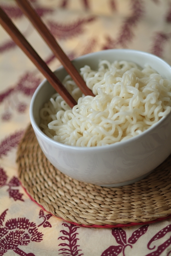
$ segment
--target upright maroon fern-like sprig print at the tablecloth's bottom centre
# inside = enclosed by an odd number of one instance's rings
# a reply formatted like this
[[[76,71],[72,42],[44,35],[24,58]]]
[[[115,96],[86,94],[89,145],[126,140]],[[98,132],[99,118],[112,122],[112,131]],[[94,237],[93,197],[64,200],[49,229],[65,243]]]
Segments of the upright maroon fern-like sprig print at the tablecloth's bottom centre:
[[[77,249],[80,245],[77,245],[77,240],[79,240],[79,238],[76,238],[77,234],[76,233],[77,229],[79,229],[79,227],[76,227],[73,224],[66,224],[66,223],[62,223],[62,225],[64,227],[67,228],[68,231],[66,230],[61,230],[60,232],[64,235],[59,237],[58,239],[64,240],[66,242],[63,242],[61,244],[59,244],[59,246],[62,246],[64,248],[59,249],[58,251],[60,252],[59,255],[67,255],[67,256],[81,256],[83,255],[83,253],[79,253],[79,251],[82,251],[81,249]]]

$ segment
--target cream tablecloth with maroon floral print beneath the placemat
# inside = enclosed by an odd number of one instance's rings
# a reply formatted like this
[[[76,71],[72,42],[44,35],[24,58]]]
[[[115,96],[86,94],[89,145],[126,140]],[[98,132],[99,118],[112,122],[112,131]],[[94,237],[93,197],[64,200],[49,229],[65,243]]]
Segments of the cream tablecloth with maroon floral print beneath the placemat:
[[[71,59],[110,48],[143,50],[171,64],[171,0],[31,0]],[[1,7],[52,70],[58,60],[14,0]],[[43,79],[0,27],[0,256],[171,255],[171,219],[142,226],[78,227],[51,216],[20,186],[16,150]]]

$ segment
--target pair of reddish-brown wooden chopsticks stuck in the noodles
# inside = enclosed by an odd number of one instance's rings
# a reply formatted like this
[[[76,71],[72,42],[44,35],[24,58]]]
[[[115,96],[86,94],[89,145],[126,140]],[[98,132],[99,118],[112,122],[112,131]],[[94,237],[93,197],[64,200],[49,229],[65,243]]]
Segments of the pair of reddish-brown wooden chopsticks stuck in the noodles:
[[[80,76],[77,69],[73,66],[71,61],[62,51],[60,46],[57,44],[55,38],[47,29],[45,24],[39,18],[37,13],[31,7],[27,0],[16,0],[19,7],[23,11],[25,15],[27,15],[28,19],[30,19],[31,23],[35,26],[38,32],[41,34],[43,39],[46,41],[47,45],[52,49],[54,55],[60,60],[63,64],[64,68],[71,75],[72,79],[75,81],[77,86],[81,89],[81,91],[85,95],[94,96],[92,91],[86,86],[83,78]],[[46,65],[46,63],[41,59],[41,57],[37,54],[37,52],[32,48],[32,46],[28,43],[26,38],[20,33],[20,31],[16,28],[16,26],[12,23],[11,19],[5,14],[5,12],[0,8],[0,24],[4,27],[4,29],[8,32],[8,34],[12,37],[14,42],[23,50],[24,53],[28,56],[28,58],[35,64],[35,66],[39,69],[39,71],[45,76],[45,78],[49,81],[49,83],[54,87],[54,89],[61,95],[61,97],[68,103],[68,105],[73,108],[77,104],[75,99],[69,94],[66,88],[62,85],[60,80],[54,75],[54,73],[50,70],[50,68]]]

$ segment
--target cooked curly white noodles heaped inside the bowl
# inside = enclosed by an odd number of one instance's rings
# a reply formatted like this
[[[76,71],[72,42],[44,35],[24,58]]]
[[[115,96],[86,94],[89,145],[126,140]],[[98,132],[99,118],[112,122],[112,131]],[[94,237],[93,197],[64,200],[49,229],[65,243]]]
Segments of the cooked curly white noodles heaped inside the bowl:
[[[58,142],[93,147],[127,140],[171,110],[171,81],[148,65],[103,60],[98,71],[86,65],[80,74],[95,97],[82,95],[66,76],[63,84],[78,104],[71,110],[56,93],[40,112],[40,127]]]

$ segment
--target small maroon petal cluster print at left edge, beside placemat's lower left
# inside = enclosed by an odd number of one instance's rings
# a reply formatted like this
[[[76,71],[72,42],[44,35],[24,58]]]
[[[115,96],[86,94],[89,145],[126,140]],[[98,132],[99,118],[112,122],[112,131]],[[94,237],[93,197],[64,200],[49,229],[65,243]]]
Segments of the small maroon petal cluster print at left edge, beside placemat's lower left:
[[[0,188],[3,186],[8,186],[7,192],[9,193],[9,197],[12,197],[15,201],[20,200],[24,201],[22,199],[23,194],[19,192],[18,189],[14,189],[13,187],[19,187],[20,182],[17,177],[12,177],[11,180],[7,183],[7,174],[3,170],[3,168],[0,168]]]

